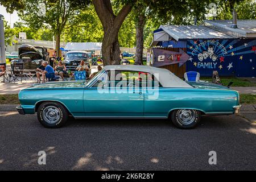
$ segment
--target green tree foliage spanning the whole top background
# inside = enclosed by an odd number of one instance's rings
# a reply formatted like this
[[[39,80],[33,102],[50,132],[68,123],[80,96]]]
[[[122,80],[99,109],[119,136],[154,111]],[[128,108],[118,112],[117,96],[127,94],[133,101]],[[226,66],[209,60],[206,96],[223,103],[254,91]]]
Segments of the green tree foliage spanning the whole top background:
[[[46,3],[46,16],[38,15],[38,3]],[[52,40],[52,36],[60,33],[61,42],[102,42],[106,27],[113,23],[123,7],[133,5],[131,12],[117,27],[118,33],[115,42],[121,47],[136,47],[136,28],[138,27],[138,15],[145,16],[143,27],[144,48],[149,47],[152,41],[152,31],[161,24],[197,24],[204,19],[209,11],[209,3],[217,5],[216,19],[232,19],[232,10],[237,10],[238,19],[256,19],[256,2],[254,0],[113,0],[105,5],[109,14],[100,12],[100,18],[88,0],[0,0],[10,13],[18,10],[22,22],[14,24],[11,28],[5,22],[6,44],[14,42],[14,36],[19,32],[26,32],[27,39]],[[89,4],[89,5],[88,5]],[[26,5],[26,6],[25,6]],[[65,5],[65,6],[61,6]],[[98,4],[101,5],[101,4]],[[143,5],[143,8],[138,8]],[[105,17],[104,17],[105,16]],[[102,26],[102,17],[111,19]],[[111,45],[110,45],[111,47]]]

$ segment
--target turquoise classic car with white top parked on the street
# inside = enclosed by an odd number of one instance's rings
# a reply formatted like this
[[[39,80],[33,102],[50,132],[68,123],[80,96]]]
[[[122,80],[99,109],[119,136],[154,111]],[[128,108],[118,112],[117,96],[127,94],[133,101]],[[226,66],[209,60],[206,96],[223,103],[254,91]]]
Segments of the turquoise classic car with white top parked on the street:
[[[170,119],[181,129],[195,127],[203,114],[240,110],[239,94],[210,82],[186,82],[167,69],[109,65],[89,81],[34,84],[19,92],[20,114],[38,115],[44,127],[73,118]]]

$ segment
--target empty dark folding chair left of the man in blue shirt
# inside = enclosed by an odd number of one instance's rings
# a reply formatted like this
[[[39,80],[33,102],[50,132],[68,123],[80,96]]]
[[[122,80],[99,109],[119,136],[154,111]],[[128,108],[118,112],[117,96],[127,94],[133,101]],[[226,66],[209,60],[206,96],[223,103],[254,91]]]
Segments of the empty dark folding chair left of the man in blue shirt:
[[[9,82],[13,82],[15,83],[15,81],[20,81],[22,82],[22,78],[23,78],[23,67],[24,64],[23,63],[13,63],[13,68],[9,69],[9,71],[11,72],[9,74]],[[20,78],[19,78],[20,77]]]

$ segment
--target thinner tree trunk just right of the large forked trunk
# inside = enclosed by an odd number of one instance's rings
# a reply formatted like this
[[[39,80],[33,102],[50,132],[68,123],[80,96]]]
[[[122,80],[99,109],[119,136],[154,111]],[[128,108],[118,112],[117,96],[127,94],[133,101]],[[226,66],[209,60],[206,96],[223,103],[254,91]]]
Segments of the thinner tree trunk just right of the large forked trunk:
[[[143,44],[144,44],[144,26],[146,23],[144,13],[140,13],[138,15],[137,24],[136,24],[136,55],[135,55],[135,63],[138,65],[142,65],[142,57],[143,57]]]

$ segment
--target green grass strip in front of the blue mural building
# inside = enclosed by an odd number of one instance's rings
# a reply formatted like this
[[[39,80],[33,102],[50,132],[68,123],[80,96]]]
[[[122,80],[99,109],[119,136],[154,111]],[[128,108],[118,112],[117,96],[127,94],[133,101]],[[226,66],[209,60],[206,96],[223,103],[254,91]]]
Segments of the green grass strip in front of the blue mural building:
[[[211,77],[201,77],[200,80],[212,81]],[[233,81],[232,86],[256,86],[255,83],[248,80],[237,77],[221,77],[221,82],[224,86],[227,86],[229,82]]]

